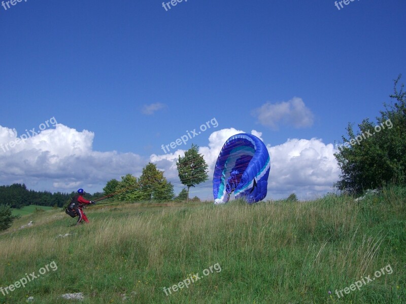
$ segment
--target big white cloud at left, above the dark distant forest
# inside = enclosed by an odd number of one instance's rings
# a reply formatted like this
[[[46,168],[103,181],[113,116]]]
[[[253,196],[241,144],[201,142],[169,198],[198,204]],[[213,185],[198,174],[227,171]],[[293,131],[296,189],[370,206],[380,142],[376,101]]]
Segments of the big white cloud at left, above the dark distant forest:
[[[93,132],[79,132],[62,124],[26,140],[19,138],[14,130],[0,127],[0,184],[24,182],[32,187],[42,183],[49,191],[72,191],[81,185],[99,191],[118,175],[139,176],[147,163],[132,153],[94,151]]]

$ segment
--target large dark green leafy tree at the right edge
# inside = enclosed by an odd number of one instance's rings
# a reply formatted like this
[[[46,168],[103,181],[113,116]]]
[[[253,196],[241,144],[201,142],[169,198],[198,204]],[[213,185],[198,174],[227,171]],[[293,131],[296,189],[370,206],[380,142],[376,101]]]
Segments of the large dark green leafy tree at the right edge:
[[[339,189],[359,194],[389,182],[406,183],[406,93],[404,85],[397,89],[400,77],[390,95],[395,103],[384,103],[376,124],[364,119],[357,133],[348,125],[345,145],[334,154],[342,171]]]

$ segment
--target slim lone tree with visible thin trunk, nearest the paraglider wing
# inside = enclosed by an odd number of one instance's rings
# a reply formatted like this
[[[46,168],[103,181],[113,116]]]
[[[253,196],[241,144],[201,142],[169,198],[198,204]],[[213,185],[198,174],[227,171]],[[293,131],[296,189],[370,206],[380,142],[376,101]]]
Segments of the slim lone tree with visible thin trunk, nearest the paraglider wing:
[[[178,166],[179,178],[187,186],[187,197],[189,199],[189,188],[209,179],[207,175],[209,167],[203,156],[198,153],[198,146],[192,144],[192,147],[185,152],[185,156],[179,156],[176,165]]]

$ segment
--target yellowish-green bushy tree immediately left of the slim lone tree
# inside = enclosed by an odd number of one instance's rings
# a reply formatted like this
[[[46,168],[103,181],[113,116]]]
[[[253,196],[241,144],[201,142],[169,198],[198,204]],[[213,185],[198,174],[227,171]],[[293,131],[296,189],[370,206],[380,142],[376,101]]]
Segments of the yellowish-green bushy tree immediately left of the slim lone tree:
[[[148,163],[139,179],[141,199],[169,201],[174,198],[174,186],[167,182],[163,171],[156,168],[153,163]]]

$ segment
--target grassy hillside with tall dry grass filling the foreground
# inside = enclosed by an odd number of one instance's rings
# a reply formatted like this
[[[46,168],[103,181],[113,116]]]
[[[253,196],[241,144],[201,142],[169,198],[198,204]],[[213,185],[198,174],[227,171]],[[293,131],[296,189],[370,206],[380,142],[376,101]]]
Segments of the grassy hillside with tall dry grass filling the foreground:
[[[405,203],[392,187],[359,202],[96,205],[80,226],[60,210],[32,213],[0,235],[0,286],[44,274],[0,302],[405,303]]]

